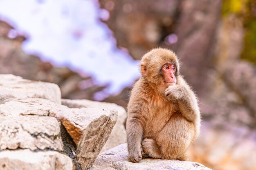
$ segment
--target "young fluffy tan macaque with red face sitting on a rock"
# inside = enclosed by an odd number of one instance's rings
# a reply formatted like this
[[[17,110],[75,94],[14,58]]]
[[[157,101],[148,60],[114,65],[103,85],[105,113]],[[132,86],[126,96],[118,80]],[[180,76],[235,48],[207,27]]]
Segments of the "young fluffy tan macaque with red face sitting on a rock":
[[[142,57],[140,68],[142,77],[128,103],[128,160],[186,160],[200,132],[200,111],[195,94],[179,75],[177,57],[170,50],[153,49]]]

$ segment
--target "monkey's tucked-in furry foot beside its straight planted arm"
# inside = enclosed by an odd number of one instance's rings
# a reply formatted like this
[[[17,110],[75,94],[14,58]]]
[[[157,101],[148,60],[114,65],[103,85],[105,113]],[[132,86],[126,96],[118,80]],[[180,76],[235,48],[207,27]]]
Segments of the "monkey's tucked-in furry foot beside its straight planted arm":
[[[142,141],[141,146],[145,155],[152,158],[161,159],[161,147],[156,143],[155,140],[146,138]]]

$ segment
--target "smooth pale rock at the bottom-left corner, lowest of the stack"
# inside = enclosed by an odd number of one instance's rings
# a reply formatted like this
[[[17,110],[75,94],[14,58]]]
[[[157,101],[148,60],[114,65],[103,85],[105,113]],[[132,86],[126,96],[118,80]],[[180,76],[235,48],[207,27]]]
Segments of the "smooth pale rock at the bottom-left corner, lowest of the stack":
[[[4,150],[0,152],[0,169],[73,170],[73,163],[70,157],[56,151]]]

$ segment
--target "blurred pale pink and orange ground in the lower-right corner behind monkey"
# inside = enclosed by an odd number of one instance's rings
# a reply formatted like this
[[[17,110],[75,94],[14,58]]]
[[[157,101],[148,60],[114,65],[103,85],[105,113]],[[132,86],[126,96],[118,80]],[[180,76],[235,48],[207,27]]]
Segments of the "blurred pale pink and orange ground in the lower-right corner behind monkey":
[[[256,131],[204,121],[190,153],[193,161],[209,167],[214,165],[214,170],[255,170],[255,150]]]

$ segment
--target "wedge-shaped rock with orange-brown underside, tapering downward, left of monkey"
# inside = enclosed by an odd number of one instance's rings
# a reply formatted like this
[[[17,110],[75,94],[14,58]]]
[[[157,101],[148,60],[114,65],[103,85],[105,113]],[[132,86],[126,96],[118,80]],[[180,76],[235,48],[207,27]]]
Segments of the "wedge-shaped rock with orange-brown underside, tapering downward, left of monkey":
[[[83,169],[90,168],[110,136],[117,121],[117,111],[99,108],[72,108],[72,114],[56,113],[74,140],[76,161]]]

